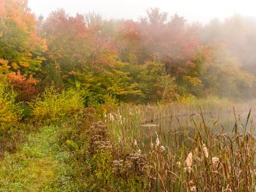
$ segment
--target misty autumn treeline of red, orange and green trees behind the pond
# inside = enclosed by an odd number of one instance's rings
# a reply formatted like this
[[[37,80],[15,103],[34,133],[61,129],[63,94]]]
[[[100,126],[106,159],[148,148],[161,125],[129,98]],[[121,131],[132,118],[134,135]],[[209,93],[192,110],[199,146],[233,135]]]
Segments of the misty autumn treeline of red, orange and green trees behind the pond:
[[[56,10],[36,16],[24,0],[0,0],[0,74],[30,101],[45,87],[79,87],[87,106],[255,97],[256,19],[188,24],[150,8],[134,20]]]

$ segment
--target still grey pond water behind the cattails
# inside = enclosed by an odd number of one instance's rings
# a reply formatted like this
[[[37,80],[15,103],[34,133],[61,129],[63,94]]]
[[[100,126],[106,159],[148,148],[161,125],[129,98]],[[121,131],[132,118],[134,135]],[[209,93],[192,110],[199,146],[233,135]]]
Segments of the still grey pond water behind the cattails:
[[[161,145],[173,147],[173,145],[178,145],[177,143],[180,145],[184,143],[184,138],[188,139],[197,130],[205,132],[204,127],[207,127],[207,131],[209,130],[211,134],[224,132],[231,134],[234,131],[234,125],[237,124],[237,132],[243,134],[250,131],[255,124],[255,120],[253,120],[255,114],[251,112],[248,118],[248,111],[239,111],[236,118],[233,111],[205,113],[204,115],[193,113],[191,115],[159,118],[150,124],[141,124],[140,136],[145,145],[148,145],[150,140],[156,141],[158,137],[161,140]],[[247,118],[248,123],[246,125]]]

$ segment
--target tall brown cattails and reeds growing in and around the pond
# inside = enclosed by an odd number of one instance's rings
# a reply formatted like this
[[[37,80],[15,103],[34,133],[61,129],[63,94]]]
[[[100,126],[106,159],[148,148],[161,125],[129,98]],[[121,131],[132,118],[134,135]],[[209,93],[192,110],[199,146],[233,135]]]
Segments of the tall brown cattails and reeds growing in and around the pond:
[[[232,105],[227,100],[147,106],[123,104],[105,117],[116,148],[141,154],[147,159],[144,165],[147,190],[255,191],[256,145],[252,111],[242,118]],[[243,112],[252,105],[235,106],[237,111]],[[222,114],[227,111],[234,116],[231,129],[220,123]],[[206,120],[206,114],[211,114],[211,120]],[[190,116],[192,128],[180,124],[162,133],[161,125],[150,128],[158,119],[184,115]],[[143,129],[150,131],[145,134]],[[170,134],[168,144],[164,141],[166,134]]]

